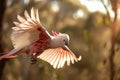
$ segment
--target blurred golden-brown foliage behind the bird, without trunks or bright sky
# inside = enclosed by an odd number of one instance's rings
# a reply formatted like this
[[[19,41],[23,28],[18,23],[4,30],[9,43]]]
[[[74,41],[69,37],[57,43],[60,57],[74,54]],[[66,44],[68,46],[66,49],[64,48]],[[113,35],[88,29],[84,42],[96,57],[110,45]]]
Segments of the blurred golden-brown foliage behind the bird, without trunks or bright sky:
[[[37,64],[31,65],[29,55],[21,54],[10,59],[4,69],[3,80],[109,80],[109,53],[111,47],[111,21],[108,15],[99,11],[90,13],[86,6],[78,0],[11,0],[4,17],[2,39],[4,51],[13,48],[10,41],[12,23],[16,15],[23,15],[23,11],[30,11],[31,7],[39,9],[42,24],[51,30],[70,35],[70,48],[76,55],[82,55],[82,61],[54,70],[48,63],[38,59]],[[27,0],[26,0],[27,1]],[[58,11],[53,11],[51,5],[57,2]],[[112,1],[112,0],[110,0]],[[112,5],[113,2],[111,2]],[[77,10],[84,12],[83,17],[75,18]],[[119,37],[120,38],[120,37]],[[119,43],[115,55],[116,80],[119,80]]]

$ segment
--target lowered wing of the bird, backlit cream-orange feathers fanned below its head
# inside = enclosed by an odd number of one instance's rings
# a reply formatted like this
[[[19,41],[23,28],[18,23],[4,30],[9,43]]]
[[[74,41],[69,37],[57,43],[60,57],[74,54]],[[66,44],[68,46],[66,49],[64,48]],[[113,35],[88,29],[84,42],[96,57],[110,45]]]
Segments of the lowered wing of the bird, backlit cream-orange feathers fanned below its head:
[[[69,66],[70,63],[74,64],[74,62],[81,60],[81,56],[77,58],[67,46],[47,49],[38,58],[47,61],[54,68],[62,68],[66,62]]]

